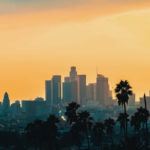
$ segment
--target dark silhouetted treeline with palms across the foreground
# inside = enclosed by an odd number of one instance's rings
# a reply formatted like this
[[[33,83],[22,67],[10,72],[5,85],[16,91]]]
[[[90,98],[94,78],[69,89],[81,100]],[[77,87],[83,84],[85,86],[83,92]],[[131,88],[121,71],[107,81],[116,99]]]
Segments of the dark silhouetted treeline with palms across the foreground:
[[[127,104],[132,95],[131,86],[127,81],[120,81],[115,93],[123,108],[116,120],[95,121],[88,111],[80,110],[80,105],[72,102],[66,107],[64,118],[50,115],[45,121],[35,120],[21,134],[0,132],[0,146],[7,150],[150,149],[146,97],[145,107],[137,108],[129,116]]]

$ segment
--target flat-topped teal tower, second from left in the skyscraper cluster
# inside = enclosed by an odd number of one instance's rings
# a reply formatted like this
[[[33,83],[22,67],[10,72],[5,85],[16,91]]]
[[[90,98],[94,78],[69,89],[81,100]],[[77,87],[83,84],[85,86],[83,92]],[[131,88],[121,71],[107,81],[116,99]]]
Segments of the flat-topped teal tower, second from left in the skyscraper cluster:
[[[52,105],[57,105],[61,102],[61,76],[54,75],[51,80],[51,98]]]

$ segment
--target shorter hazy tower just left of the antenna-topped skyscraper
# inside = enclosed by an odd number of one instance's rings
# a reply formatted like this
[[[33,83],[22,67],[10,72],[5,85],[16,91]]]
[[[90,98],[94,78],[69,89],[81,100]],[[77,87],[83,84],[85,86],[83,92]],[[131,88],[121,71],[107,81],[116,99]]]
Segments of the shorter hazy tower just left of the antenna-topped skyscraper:
[[[87,101],[95,101],[96,100],[96,84],[90,83],[86,87],[86,97]]]

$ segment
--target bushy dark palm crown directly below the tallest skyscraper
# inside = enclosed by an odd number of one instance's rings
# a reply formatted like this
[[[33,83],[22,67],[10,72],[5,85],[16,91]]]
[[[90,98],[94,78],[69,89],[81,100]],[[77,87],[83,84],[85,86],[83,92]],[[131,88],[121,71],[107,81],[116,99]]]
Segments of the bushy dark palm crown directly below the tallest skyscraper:
[[[65,115],[67,116],[67,121],[70,125],[77,121],[77,110],[79,107],[80,105],[76,102],[72,102],[66,107]]]

